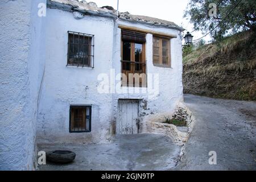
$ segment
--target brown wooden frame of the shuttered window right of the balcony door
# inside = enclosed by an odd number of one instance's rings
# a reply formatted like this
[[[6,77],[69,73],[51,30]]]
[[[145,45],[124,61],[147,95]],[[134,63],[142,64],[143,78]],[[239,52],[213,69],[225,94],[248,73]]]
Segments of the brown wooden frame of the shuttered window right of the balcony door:
[[[159,47],[154,46],[154,38],[159,39]],[[167,41],[168,49],[168,64],[163,64],[163,40]],[[152,44],[152,62],[155,67],[171,68],[171,39],[165,38],[162,36],[153,35],[153,44]],[[159,55],[154,55],[154,48],[159,48]],[[159,56],[159,64],[154,63],[154,56]]]

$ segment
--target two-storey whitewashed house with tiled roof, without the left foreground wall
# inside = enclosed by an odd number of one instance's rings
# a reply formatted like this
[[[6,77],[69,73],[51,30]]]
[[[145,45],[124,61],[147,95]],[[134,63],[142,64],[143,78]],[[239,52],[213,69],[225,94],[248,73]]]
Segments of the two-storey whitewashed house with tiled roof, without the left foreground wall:
[[[171,113],[183,99],[181,31],[92,2],[48,1],[37,141],[105,142],[147,132],[145,116]],[[129,73],[141,76],[137,84]]]

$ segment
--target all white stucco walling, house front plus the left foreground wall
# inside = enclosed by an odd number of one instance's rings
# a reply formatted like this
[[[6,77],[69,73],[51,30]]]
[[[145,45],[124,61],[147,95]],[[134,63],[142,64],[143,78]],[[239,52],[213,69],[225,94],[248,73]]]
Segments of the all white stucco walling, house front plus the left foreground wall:
[[[35,168],[38,143],[105,143],[112,139],[118,99],[141,100],[142,132],[150,114],[172,113],[182,94],[181,40],[177,30],[138,23],[118,24],[176,34],[172,68],[152,64],[152,35],[146,36],[147,73],[159,74],[159,94],[101,94],[97,77],[121,72],[121,30],[111,18],[47,9],[46,0],[0,2],[0,169]],[[67,67],[67,31],[94,35],[94,68]],[[117,84],[117,80],[109,80]],[[113,82],[112,82],[113,81]],[[149,82],[148,82],[149,84]],[[123,88],[125,89],[125,88]],[[133,89],[133,88],[130,88]],[[69,133],[69,106],[92,105],[92,132]]]

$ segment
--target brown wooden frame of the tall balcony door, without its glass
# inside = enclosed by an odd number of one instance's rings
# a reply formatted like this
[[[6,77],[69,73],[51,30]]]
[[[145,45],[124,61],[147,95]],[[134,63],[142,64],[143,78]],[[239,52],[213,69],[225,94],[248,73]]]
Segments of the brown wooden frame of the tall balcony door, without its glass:
[[[125,73],[127,79],[129,77],[129,73],[144,73],[144,74],[147,74],[146,71],[146,67],[147,67],[147,64],[146,64],[146,43],[138,43],[138,44],[142,44],[142,64],[144,64],[143,68],[142,68],[142,71],[135,71],[135,44],[134,42],[130,42],[131,43],[131,50],[130,50],[130,56],[131,56],[131,64],[130,64],[130,71],[126,71],[122,68],[122,61],[123,61],[123,40],[121,40],[121,73]],[[128,73],[128,75],[127,75]],[[140,78],[141,80],[141,78]],[[146,78],[146,85],[142,85],[141,82],[140,82],[140,87],[147,87],[147,78]],[[128,87],[135,87],[134,85],[130,85],[129,84],[129,80],[127,80],[127,85],[121,85],[121,86],[128,86]]]

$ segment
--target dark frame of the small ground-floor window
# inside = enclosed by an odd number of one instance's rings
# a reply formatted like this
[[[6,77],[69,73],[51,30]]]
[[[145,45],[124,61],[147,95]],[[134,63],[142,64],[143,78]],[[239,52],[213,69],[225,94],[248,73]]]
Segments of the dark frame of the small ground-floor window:
[[[89,128],[86,129],[86,110],[87,108],[89,108]],[[72,113],[72,109],[85,109],[85,120],[84,120],[84,125],[85,125],[85,130],[75,130],[75,123],[74,120],[72,119],[73,113]],[[73,128],[72,128],[73,126]],[[81,127],[82,128],[82,127]],[[69,133],[90,133],[92,131],[92,106],[90,105],[71,105],[69,107]]]

